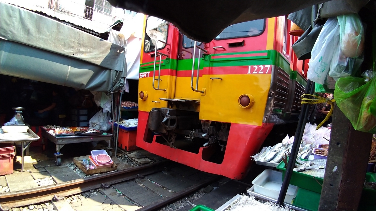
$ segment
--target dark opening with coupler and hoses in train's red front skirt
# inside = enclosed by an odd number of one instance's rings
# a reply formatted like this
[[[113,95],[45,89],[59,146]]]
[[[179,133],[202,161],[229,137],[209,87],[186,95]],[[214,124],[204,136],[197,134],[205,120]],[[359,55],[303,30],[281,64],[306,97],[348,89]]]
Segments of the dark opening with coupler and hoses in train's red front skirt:
[[[148,127],[160,135],[156,142],[171,148],[197,154],[200,147],[210,146],[214,163],[223,160],[230,131],[229,123],[199,120],[199,112],[168,108],[153,108]]]

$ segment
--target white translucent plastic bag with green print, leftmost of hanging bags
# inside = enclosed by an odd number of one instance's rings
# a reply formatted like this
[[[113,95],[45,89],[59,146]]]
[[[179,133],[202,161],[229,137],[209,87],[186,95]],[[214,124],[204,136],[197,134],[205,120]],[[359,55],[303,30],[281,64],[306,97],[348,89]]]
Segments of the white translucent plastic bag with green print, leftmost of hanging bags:
[[[329,72],[334,49],[339,45],[340,26],[337,18],[329,18],[323,26],[311,52],[307,77],[318,84],[324,84]]]

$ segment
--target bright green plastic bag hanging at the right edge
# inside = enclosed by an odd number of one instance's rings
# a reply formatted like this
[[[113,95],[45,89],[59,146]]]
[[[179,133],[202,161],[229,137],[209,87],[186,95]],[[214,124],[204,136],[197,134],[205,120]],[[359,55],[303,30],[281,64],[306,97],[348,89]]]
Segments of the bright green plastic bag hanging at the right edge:
[[[335,101],[355,130],[376,133],[375,95],[374,77],[368,83],[364,78],[339,78],[335,84]]]

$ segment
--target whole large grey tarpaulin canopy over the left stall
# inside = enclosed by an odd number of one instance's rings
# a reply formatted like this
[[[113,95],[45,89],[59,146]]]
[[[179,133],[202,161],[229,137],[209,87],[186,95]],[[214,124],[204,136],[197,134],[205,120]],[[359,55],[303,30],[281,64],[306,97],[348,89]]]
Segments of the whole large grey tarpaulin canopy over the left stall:
[[[123,47],[14,5],[0,2],[0,11],[0,74],[92,91],[124,86]]]

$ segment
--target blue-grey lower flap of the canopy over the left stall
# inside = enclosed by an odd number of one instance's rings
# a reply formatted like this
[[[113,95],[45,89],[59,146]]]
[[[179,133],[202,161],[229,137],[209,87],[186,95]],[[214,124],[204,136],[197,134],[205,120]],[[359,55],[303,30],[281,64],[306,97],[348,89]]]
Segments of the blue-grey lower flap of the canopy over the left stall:
[[[0,74],[109,93],[124,86],[122,71],[0,39]]]

